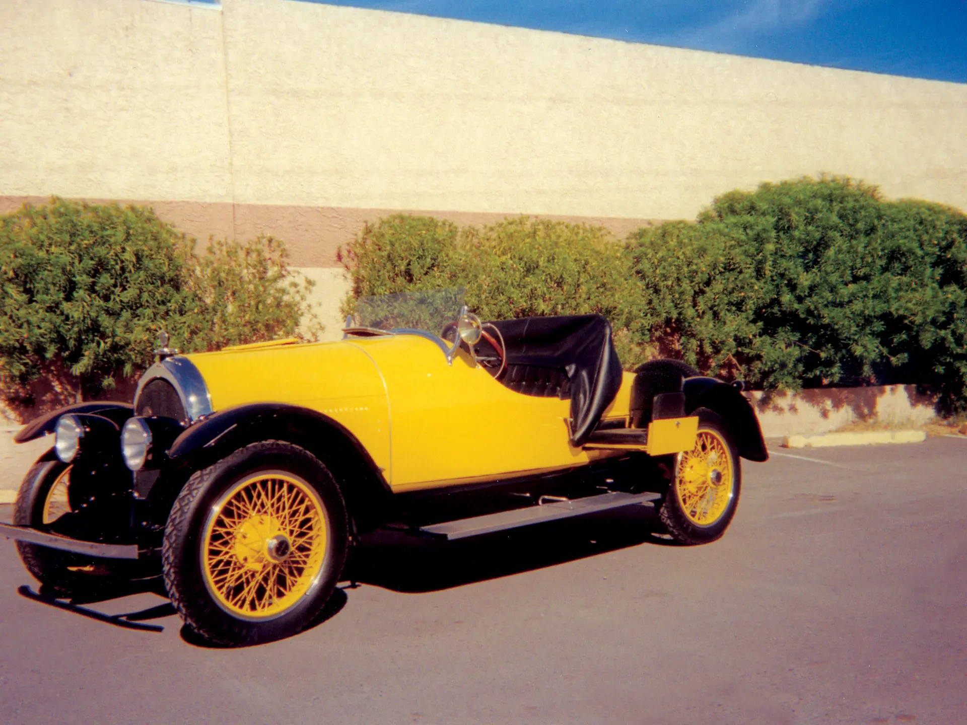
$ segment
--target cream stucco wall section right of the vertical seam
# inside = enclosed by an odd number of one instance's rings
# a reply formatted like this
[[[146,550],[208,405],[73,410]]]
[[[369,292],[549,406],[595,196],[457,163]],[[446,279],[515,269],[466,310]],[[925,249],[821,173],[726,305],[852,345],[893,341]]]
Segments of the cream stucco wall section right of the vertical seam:
[[[962,85],[286,0],[224,7],[239,201],[694,217],[728,188],[830,171],[967,207]]]

